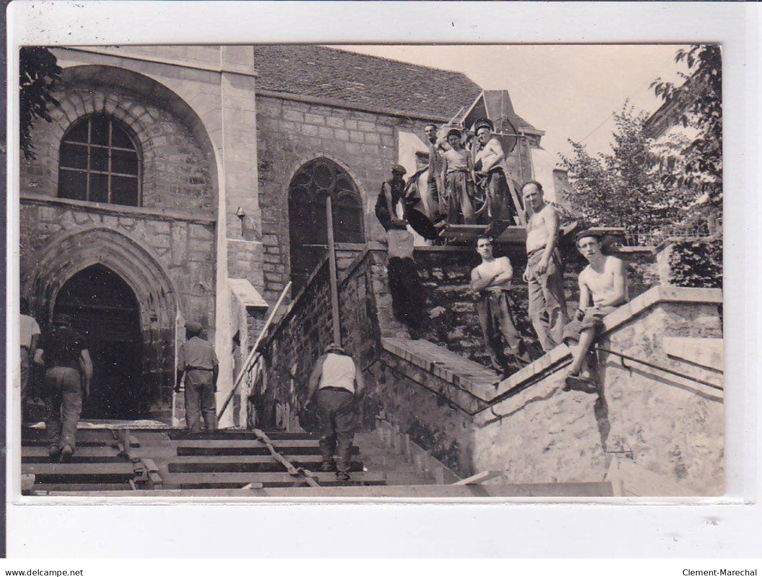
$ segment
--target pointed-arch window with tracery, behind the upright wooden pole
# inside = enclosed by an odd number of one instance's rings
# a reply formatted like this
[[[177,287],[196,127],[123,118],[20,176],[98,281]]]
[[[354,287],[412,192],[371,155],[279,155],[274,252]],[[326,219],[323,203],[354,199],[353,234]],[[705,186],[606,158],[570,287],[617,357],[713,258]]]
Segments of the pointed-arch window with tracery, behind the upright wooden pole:
[[[335,242],[365,242],[363,202],[352,178],[334,162],[307,162],[289,185],[293,293],[315,269],[328,243],[325,199],[331,197]]]

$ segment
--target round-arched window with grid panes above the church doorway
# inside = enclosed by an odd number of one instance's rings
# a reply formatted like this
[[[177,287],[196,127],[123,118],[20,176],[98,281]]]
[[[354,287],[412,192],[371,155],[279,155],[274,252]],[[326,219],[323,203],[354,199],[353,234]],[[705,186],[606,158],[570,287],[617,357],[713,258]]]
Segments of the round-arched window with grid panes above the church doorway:
[[[119,120],[94,114],[66,131],[59,155],[58,195],[139,206],[140,157]]]

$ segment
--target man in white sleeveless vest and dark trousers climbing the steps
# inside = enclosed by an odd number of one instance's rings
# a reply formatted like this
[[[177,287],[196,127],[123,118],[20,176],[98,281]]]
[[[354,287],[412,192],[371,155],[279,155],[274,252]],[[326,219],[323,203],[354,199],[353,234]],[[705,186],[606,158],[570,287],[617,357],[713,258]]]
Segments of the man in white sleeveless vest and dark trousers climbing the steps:
[[[340,345],[328,345],[309,376],[305,408],[317,394],[321,470],[336,471],[340,481],[350,478],[355,418],[364,391],[363,373],[352,357]]]

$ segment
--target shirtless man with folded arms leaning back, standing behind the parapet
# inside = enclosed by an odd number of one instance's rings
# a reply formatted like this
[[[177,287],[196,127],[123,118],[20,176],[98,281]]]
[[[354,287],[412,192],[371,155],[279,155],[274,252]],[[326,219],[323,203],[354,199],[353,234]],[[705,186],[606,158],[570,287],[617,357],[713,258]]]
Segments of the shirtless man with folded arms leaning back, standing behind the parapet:
[[[511,289],[514,270],[506,256],[495,258],[492,255],[492,239],[487,236],[479,236],[476,239],[476,252],[482,257],[482,264],[471,271],[471,288],[479,293],[476,313],[479,315],[479,324],[482,325],[482,334],[492,367],[503,377],[507,377],[511,373],[511,364],[504,354],[500,335],[511,348],[514,365],[520,368],[530,362],[523,339],[511,315],[508,290]]]

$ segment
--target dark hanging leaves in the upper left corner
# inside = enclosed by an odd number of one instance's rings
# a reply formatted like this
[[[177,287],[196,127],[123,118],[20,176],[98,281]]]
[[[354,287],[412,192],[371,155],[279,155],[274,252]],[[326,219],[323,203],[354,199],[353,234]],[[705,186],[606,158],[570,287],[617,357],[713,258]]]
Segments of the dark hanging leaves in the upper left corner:
[[[58,106],[53,98],[53,86],[61,78],[56,56],[47,48],[25,46],[21,48],[18,85],[20,90],[21,150],[27,160],[34,159],[31,130],[34,118],[52,122],[48,105]]]

